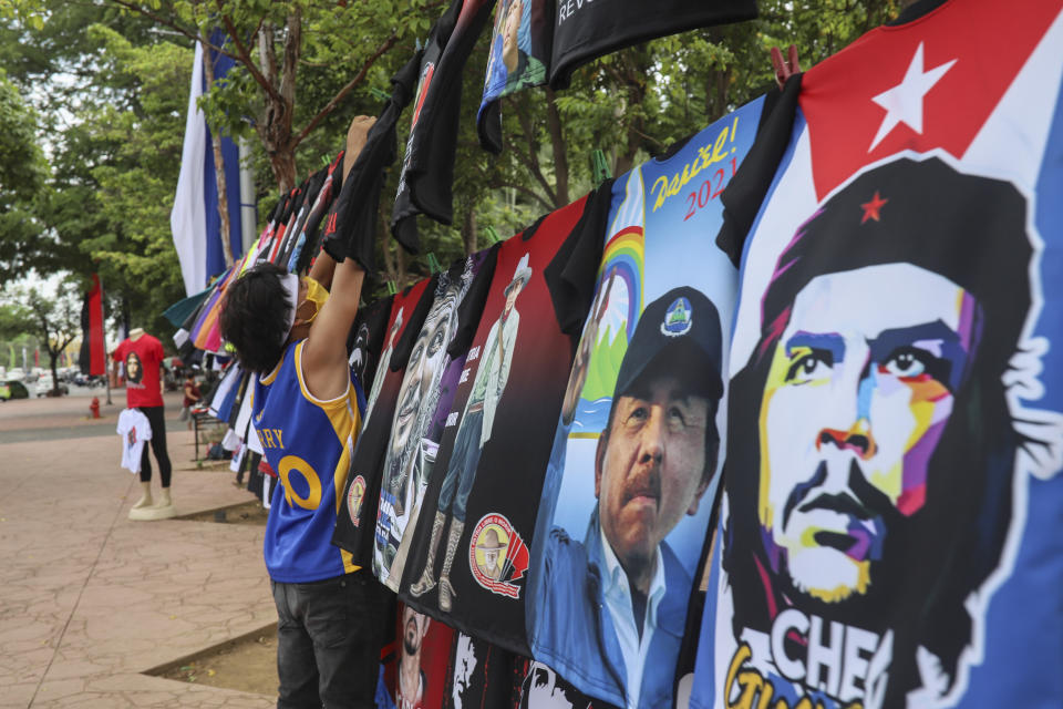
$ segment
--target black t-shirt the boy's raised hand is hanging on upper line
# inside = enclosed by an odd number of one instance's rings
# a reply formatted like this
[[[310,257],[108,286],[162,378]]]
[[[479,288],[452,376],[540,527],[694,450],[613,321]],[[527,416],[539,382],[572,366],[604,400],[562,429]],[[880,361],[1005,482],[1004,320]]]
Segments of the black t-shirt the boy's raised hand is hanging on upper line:
[[[337,260],[350,257],[368,273],[375,268],[376,217],[384,176],[395,162],[395,123],[413,96],[413,85],[421,66],[416,52],[391,78],[391,97],[365,137],[343,188],[339,192],[326,228],[326,250]]]

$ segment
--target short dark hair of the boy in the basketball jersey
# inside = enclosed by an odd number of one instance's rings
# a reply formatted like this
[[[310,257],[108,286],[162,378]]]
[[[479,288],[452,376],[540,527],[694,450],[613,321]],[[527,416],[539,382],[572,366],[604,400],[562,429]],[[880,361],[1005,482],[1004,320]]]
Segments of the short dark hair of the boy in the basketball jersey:
[[[219,318],[221,337],[236,348],[240,366],[267,373],[285,353],[291,304],[279,266],[262,261],[229,285]]]

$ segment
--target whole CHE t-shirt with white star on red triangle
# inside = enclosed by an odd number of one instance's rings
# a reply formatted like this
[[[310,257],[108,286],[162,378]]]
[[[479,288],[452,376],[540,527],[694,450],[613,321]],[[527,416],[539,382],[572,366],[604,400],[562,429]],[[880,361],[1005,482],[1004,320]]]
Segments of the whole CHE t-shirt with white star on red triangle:
[[[1061,12],[916,3],[734,181],[692,706],[1063,705]]]

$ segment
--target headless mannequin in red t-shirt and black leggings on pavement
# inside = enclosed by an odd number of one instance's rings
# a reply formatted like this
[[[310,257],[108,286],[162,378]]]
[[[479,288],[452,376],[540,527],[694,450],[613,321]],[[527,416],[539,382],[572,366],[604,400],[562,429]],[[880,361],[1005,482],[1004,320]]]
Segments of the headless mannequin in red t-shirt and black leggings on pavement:
[[[152,424],[152,452],[158,463],[158,475],[163,483],[158,504],[152,500],[152,464],[147,456],[147,446],[141,458],[141,486],[143,495],[130,511],[131,520],[161,520],[176,514],[169,496],[169,455],[166,453],[166,421],[163,417],[163,382],[159,369],[163,363],[163,343],[146,333],[142,328],[130,330],[130,337],[122,341],[114,352],[114,368],[118,362],[125,364],[125,405],[140,409]]]

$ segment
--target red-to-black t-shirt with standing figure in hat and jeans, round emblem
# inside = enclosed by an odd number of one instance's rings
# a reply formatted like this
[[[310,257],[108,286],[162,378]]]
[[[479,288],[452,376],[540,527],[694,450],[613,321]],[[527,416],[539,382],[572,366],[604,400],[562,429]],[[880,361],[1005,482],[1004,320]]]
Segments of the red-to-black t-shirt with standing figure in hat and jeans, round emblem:
[[[506,240],[465,358],[416,536],[403,600],[512,650],[525,647],[528,547],[557,408],[589,288],[605,199],[584,197]],[[587,253],[589,251],[589,257]],[[574,266],[548,273],[558,254]],[[578,265],[585,265],[580,270]],[[564,323],[564,327],[563,327]]]

